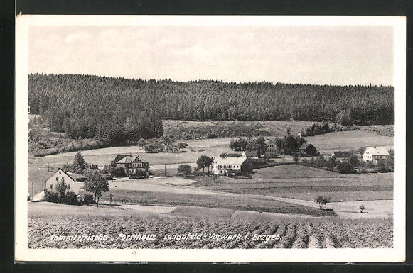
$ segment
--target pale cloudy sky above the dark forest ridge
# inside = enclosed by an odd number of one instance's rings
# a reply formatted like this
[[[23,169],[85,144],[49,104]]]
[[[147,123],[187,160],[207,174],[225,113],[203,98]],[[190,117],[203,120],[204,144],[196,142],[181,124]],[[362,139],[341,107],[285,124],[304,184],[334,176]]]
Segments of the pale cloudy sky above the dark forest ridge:
[[[30,26],[29,72],[393,85],[391,26]]]

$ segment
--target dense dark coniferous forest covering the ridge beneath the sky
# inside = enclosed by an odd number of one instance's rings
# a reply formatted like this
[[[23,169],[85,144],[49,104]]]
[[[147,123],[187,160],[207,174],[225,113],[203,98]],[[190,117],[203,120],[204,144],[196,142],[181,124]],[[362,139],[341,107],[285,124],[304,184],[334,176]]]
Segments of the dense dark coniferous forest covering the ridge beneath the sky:
[[[176,82],[30,74],[28,105],[50,130],[116,144],[163,135],[162,119],[393,123],[393,87]]]

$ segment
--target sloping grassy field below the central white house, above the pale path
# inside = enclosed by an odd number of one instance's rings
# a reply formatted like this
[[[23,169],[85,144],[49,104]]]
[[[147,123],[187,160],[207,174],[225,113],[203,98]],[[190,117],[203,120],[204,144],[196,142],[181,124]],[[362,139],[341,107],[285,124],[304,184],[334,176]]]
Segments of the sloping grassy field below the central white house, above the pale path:
[[[259,194],[312,201],[330,196],[331,201],[393,199],[392,173],[338,174],[301,165],[256,169],[252,179],[203,177],[191,186],[237,194]]]

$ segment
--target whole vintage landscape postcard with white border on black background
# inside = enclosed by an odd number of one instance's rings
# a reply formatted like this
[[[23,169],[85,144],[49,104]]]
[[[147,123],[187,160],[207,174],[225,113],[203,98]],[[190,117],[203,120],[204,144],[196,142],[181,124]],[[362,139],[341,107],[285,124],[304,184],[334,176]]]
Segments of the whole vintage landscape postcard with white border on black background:
[[[16,19],[16,260],[403,262],[403,16]]]

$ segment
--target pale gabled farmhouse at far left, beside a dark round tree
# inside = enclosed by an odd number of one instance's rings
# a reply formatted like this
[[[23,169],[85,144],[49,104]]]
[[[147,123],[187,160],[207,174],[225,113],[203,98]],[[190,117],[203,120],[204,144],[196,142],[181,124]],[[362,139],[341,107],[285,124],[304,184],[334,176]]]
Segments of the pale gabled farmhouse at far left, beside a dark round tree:
[[[59,168],[55,174],[46,180],[45,186],[48,191],[54,191],[57,193],[58,191],[56,190],[56,184],[58,184],[58,182],[65,182],[67,186],[66,191],[73,191],[75,194],[79,194],[79,191],[85,184],[86,179],[87,177],[82,174],[65,172],[63,169]]]

